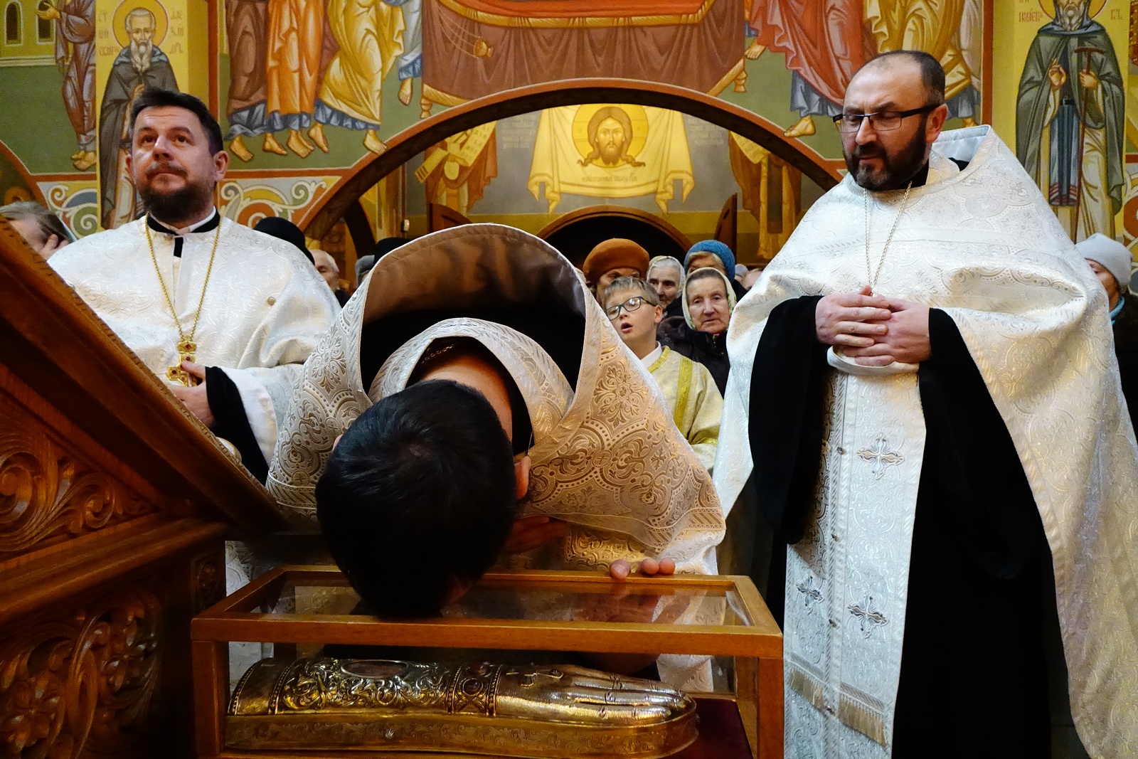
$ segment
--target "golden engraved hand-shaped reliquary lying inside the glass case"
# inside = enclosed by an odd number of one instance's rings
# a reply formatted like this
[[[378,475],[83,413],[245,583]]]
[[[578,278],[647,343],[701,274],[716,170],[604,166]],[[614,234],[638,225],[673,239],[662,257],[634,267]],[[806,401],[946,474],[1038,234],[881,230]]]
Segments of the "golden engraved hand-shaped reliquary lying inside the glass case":
[[[695,704],[660,683],[580,667],[265,659],[230,702],[234,749],[665,757],[696,737]]]

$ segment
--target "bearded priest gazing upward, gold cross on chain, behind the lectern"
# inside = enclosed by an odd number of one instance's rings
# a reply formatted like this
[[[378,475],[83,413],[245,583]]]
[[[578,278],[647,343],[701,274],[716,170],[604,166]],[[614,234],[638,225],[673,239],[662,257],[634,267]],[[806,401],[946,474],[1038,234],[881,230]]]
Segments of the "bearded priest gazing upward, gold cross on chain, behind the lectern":
[[[294,246],[218,214],[229,154],[200,100],[148,90],[132,117],[148,214],[49,263],[264,481],[278,416],[336,298]]]

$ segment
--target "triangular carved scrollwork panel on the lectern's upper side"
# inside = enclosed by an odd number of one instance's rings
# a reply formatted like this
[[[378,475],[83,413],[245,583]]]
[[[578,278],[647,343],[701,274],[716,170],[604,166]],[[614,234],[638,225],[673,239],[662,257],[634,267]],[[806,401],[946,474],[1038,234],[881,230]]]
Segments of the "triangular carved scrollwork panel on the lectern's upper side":
[[[2,394],[0,419],[0,556],[154,511],[69,455],[41,420]]]

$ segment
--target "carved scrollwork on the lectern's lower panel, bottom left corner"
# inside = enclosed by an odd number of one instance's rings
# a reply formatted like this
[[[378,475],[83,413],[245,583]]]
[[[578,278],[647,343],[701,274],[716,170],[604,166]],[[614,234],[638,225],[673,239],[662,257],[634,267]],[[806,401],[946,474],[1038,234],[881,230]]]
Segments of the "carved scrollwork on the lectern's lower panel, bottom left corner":
[[[0,642],[0,745],[15,757],[114,752],[151,708],[160,607],[124,591]]]

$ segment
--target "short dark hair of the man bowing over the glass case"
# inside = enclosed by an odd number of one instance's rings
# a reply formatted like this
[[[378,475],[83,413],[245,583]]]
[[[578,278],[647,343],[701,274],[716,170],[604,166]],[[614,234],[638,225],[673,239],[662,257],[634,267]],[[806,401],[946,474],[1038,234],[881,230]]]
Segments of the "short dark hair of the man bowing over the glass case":
[[[489,401],[454,381],[426,380],[348,428],[316,485],[316,515],[371,611],[427,617],[497,559],[518,489],[510,438]]]

